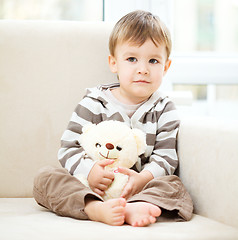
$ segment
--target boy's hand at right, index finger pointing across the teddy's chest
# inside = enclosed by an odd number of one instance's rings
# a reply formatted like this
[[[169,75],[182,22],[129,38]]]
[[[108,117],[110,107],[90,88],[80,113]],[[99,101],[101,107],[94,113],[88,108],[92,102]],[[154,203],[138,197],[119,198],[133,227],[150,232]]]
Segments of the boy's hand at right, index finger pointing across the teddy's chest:
[[[128,182],[121,194],[121,197],[126,199],[140,192],[144,186],[154,178],[153,175],[147,170],[137,173],[131,169],[118,168],[118,172],[129,176]]]

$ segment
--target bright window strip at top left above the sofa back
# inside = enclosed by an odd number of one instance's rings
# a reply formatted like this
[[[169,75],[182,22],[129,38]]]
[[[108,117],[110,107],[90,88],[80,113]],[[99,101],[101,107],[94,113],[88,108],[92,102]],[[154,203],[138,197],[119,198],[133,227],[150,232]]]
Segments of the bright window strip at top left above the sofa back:
[[[0,19],[102,21],[102,0],[0,0]]]

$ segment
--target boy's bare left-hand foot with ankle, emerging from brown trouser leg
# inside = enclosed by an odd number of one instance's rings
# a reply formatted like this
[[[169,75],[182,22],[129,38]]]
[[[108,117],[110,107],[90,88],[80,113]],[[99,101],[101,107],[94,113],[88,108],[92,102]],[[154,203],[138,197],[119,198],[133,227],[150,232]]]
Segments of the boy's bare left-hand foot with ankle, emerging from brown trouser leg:
[[[90,220],[120,226],[125,222],[125,206],[124,198],[109,199],[105,202],[90,200],[84,211]]]

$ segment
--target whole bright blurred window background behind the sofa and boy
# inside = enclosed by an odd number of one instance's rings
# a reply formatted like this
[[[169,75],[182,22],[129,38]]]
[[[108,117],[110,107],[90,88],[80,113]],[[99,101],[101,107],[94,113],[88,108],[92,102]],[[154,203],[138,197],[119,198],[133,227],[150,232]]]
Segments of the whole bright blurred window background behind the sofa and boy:
[[[0,19],[116,22],[136,9],[171,31],[173,61],[162,87],[184,99],[182,112],[214,116],[226,105],[225,115],[238,119],[238,0],[0,0]]]

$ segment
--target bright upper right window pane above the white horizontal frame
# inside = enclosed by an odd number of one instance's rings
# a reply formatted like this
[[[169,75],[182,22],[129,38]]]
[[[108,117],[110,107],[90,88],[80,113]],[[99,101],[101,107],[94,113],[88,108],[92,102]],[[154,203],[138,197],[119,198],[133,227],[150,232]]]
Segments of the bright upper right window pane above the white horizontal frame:
[[[238,53],[237,0],[175,0],[173,4],[176,51]]]

